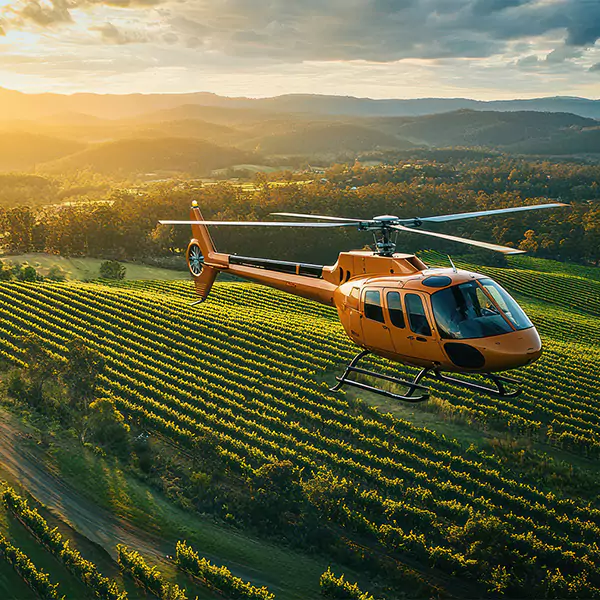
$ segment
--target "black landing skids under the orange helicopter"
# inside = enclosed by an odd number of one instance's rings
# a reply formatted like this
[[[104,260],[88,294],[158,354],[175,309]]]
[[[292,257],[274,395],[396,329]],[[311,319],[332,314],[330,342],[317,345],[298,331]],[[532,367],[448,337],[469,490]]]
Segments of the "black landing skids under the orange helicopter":
[[[421,371],[419,371],[419,373],[412,381],[407,381],[406,379],[400,379],[399,377],[392,377],[390,375],[385,375],[383,373],[377,373],[376,371],[371,371],[369,369],[363,369],[361,367],[358,367],[358,363],[369,354],[371,354],[371,352],[369,352],[368,350],[363,350],[362,352],[359,352],[348,364],[346,370],[344,371],[344,374],[341,377],[336,377],[338,383],[333,387],[329,388],[329,391],[337,392],[343,386],[349,385],[352,387],[359,388],[361,390],[367,390],[369,392],[379,394],[381,396],[387,396],[388,398],[393,398],[394,400],[417,403],[424,402],[429,398],[429,388],[425,385],[422,385],[421,381],[425,377],[431,377],[433,379],[436,379],[437,381],[442,381],[444,383],[449,383],[451,385],[463,387],[468,390],[478,392],[480,394],[486,394],[493,398],[516,398],[521,393],[521,388],[519,387],[520,382],[517,379],[507,377],[506,375],[496,375],[494,373],[477,373],[477,375],[482,375],[488,378],[489,381],[491,381],[494,384],[494,387],[488,387],[487,385],[481,385],[478,383],[467,381],[465,379],[459,379],[458,377],[447,375],[437,369],[432,368],[421,369]],[[405,394],[395,394],[394,392],[384,390],[374,385],[369,385],[368,383],[363,383],[362,381],[350,379],[350,375],[352,373],[368,375],[370,377],[380,379],[382,381],[390,381],[391,383],[395,383],[396,385],[399,385],[401,387],[408,388],[408,391]],[[511,385],[511,387],[516,387],[515,389],[509,390],[507,388],[507,384]]]

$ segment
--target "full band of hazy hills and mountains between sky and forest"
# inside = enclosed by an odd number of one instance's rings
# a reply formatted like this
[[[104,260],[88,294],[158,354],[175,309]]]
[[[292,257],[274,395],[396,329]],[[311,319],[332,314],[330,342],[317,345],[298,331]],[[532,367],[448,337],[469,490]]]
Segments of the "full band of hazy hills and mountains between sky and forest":
[[[516,110],[525,103],[530,109],[579,107],[600,116],[600,101],[542,98],[456,109],[461,102],[474,101],[59,96],[0,89],[0,171],[204,176],[236,165],[393,160],[414,149],[449,147],[600,155],[600,121],[574,110]],[[481,110],[492,105],[505,110]],[[402,110],[429,114],[394,114]]]

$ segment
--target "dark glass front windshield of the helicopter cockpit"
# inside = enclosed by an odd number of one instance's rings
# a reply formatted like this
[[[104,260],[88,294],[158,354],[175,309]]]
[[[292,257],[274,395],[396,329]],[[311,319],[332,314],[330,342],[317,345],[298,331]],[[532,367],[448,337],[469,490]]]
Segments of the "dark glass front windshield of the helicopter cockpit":
[[[431,304],[440,335],[446,339],[488,337],[533,327],[508,292],[491,279],[440,290],[431,296]]]

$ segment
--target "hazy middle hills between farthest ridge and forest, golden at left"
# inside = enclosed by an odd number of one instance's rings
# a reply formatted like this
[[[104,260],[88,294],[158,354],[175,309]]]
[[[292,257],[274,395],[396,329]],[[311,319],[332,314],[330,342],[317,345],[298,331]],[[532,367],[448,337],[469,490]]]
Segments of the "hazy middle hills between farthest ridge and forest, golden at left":
[[[60,113],[0,123],[0,171],[208,175],[273,157],[323,162],[366,152],[483,147],[533,155],[600,154],[598,121],[568,113],[458,110],[419,117],[341,117],[182,105],[101,120]],[[255,155],[260,154],[260,158]]]

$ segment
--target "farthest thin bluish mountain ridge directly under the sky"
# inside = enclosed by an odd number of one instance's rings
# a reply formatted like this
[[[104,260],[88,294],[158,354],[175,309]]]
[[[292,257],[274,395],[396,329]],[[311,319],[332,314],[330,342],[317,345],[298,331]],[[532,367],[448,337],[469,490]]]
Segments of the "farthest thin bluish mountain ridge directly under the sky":
[[[600,100],[568,96],[530,100],[481,101],[468,98],[415,98],[410,100],[288,94],[274,98],[228,98],[207,92],[191,94],[23,94],[0,88],[0,121],[36,119],[84,113],[104,119],[131,118],[182,105],[245,109],[262,113],[304,113],[356,117],[419,116],[461,109],[478,111],[566,112],[600,119]]]

